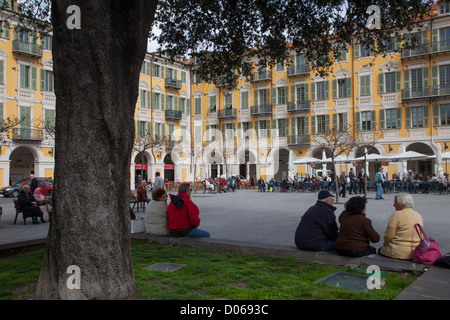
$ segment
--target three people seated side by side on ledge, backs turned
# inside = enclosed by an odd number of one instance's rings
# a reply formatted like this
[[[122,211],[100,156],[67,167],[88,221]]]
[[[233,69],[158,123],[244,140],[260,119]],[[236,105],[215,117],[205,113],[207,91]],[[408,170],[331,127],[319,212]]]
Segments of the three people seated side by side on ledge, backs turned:
[[[333,206],[334,196],[328,190],[318,194],[316,204],[302,216],[295,232],[295,245],[300,250],[336,250],[349,257],[376,254],[371,243],[380,241],[379,233],[373,228],[366,215],[366,199],[361,196],[350,198],[340,214],[338,227]],[[413,198],[408,193],[394,197],[395,212],[389,218],[384,242],[378,254],[397,259],[412,259],[420,238],[414,232],[414,225],[423,227],[422,216],[414,211]]]

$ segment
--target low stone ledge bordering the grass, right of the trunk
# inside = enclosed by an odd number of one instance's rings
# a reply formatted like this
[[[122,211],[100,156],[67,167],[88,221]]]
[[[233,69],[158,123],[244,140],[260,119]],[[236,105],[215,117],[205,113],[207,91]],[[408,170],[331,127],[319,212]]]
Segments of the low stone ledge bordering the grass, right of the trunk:
[[[354,268],[367,268],[376,265],[380,270],[385,271],[418,271],[422,272],[428,266],[413,263],[408,260],[391,259],[376,255],[374,258],[350,258],[340,256],[336,251],[301,251],[295,246],[279,246],[270,244],[259,244],[252,242],[242,242],[234,240],[223,240],[213,238],[187,238],[154,236],[145,233],[132,234],[133,239],[145,240],[154,244],[169,244],[172,246],[194,247],[213,250],[228,250],[246,254],[261,254],[277,257],[294,257],[302,261],[309,261],[320,264],[348,266]]]

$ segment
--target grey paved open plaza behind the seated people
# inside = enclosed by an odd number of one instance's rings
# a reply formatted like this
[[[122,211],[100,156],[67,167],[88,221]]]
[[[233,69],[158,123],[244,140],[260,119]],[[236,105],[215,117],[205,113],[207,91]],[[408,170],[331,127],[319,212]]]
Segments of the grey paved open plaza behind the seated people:
[[[170,191],[175,194],[176,191]],[[367,216],[383,239],[387,221],[394,212],[394,194],[385,194],[385,200],[375,200],[368,194]],[[347,198],[340,198],[335,206],[336,218],[344,208]],[[425,224],[425,232],[436,239],[442,253],[450,252],[450,195],[414,194],[415,206]],[[201,229],[208,230],[215,239],[254,242],[259,244],[294,246],[294,233],[303,213],[317,200],[317,193],[281,193],[257,190],[203,194],[198,191],[192,199],[200,209]],[[21,215],[14,221],[11,198],[0,198],[3,215],[0,224],[0,244],[45,238],[48,223],[23,225]],[[143,215],[142,210],[137,212]],[[380,243],[374,244],[376,248]]]

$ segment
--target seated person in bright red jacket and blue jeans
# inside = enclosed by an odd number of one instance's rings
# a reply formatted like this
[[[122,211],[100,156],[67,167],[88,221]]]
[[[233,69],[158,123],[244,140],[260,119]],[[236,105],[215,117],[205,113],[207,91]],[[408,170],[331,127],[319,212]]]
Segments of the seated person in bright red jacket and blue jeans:
[[[208,231],[198,229],[200,225],[198,207],[191,200],[191,185],[181,183],[176,196],[170,195],[168,208],[169,232],[175,237],[209,238]]]

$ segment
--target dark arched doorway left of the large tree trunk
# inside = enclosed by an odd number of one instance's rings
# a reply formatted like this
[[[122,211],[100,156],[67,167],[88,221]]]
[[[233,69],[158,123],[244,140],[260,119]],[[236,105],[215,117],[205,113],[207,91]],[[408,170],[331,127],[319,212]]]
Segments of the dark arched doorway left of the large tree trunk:
[[[10,160],[10,184],[28,179],[30,174],[35,174],[35,154],[26,147],[14,149],[9,157]]]

